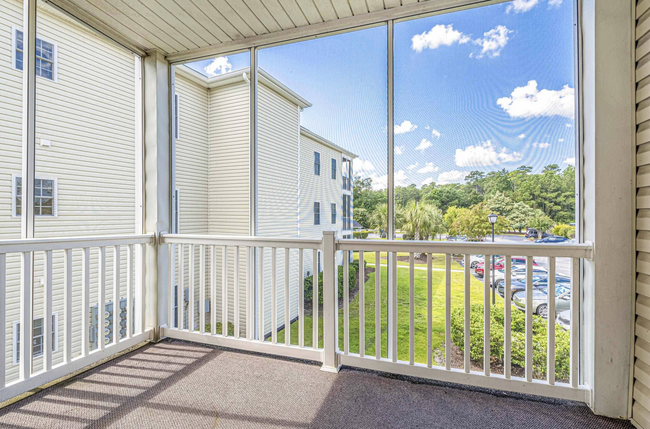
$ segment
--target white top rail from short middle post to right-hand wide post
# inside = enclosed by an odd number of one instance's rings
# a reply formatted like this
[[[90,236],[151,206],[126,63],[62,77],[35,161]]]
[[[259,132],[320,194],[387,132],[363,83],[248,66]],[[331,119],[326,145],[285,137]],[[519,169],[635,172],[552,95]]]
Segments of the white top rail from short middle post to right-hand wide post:
[[[408,240],[337,240],[337,250],[366,252],[450,253],[461,255],[509,255],[556,258],[593,258],[593,245],[580,244],[509,244],[491,242],[449,242]]]

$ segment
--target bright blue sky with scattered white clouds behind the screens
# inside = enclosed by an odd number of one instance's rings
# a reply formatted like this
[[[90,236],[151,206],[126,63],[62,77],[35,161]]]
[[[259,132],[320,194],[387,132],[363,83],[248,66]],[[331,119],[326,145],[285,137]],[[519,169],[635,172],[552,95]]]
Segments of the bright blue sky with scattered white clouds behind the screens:
[[[395,24],[395,184],[462,182],[575,159],[573,3],[517,0]],[[387,30],[259,51],[260,67],[312,103],[301,123],[359,155],[385,186]],[[213,60],[191,66],[202,73]],[[209,70],[249,65],[231,55]]]

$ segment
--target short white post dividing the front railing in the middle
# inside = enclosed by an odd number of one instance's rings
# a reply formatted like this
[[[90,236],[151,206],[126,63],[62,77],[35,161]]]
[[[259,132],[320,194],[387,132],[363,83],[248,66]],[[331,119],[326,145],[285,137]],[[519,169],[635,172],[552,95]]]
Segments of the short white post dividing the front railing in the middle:
[[[339,372],[340,368],[336,354],[337,277],[336,231],[323,231],[323,366],[321,371],[327,372]],[[316,302],[316,298],[314,300]]]

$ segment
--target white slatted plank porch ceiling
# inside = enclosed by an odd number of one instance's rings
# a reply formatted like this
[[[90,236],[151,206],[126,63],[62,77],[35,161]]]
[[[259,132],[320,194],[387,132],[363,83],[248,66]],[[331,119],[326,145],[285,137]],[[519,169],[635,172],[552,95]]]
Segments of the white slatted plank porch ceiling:
[[[181,60],[250,47],[242,43],[249,39],[273,35],[277,41],[284,33],[294,38],[312,26],[332,31],[484,0],[420,0],[420,5],[419,0],[46,1],[137,52],[156,48]]]

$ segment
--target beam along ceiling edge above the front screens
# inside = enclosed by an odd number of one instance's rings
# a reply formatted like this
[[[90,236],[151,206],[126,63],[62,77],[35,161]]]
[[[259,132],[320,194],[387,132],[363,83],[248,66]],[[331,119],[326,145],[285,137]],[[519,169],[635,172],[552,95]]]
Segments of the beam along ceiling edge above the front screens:
[[[58,2],[63,0],[51,1]],[[332,33],[344,32],[354,28],[369,27],[384,23],[390,19],[405,20],[416,16],[436,15],[450,12],[452,10],[469,9],[478,5],[484,6],[488,4],[504,3],[506,1],[508,0],[427,0],[393,9],[385,9],[363,15],[356,15],[348,18],[341,18],[333,21],[263,34],[260,36],[233,40],[218,45],[176,52],[167,55],[167,61],[172,64],[179,64],[243,51],[253,47],[268,47],[274,44],[317,38],[324,34],[331,35]]]

